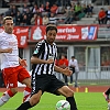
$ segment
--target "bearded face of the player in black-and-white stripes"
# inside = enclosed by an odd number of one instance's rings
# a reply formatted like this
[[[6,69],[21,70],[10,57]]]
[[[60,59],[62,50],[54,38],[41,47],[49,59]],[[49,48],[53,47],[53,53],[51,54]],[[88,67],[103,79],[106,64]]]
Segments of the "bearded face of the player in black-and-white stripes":
[[[53,42],[55,41],[55,37],[56,37],[56,31],[55,30],[50,30],[46,34],[46,41],[50,43],[50,44],[53,44]]]

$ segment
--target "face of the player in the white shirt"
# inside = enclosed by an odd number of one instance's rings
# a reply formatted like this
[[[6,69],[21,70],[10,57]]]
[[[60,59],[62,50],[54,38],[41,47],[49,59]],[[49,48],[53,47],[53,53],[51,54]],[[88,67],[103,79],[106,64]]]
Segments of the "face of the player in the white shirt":
[[[12,32],[13,32],[13,21],[12,20],[6,20],[3,28],[4,28],[6,33],[12,34]]]

